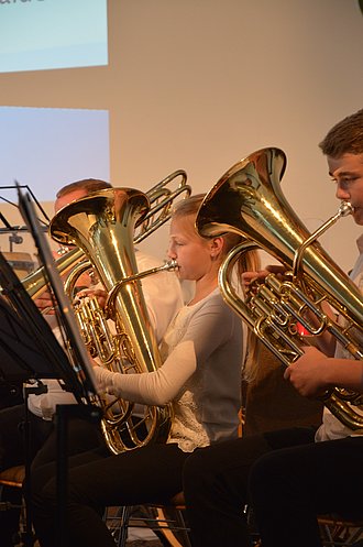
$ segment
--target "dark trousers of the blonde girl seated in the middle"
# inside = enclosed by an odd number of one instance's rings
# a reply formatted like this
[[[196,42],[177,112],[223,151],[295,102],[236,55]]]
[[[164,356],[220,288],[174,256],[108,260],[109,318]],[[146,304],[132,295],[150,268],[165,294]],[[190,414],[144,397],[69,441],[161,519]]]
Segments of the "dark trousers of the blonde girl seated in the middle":
[[[118,456],[107,448],[68,458],[65,540],[62,547],[114,547],[102,514],[106,506],[166,502],[182,491],[189,453],[177,445],[152,444]],[[35,461],[34,461],[35,463]],[[57,543],[57,494],[54,461],[33,466],[33,519],[42,547]]]

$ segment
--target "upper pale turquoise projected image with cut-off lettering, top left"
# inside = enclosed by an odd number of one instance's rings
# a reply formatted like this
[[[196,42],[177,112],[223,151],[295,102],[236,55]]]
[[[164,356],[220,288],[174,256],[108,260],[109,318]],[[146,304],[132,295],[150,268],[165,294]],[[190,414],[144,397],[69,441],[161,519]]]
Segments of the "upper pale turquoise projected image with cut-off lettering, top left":
[[[0,2],[0,72],[108,63],[107,0]]]

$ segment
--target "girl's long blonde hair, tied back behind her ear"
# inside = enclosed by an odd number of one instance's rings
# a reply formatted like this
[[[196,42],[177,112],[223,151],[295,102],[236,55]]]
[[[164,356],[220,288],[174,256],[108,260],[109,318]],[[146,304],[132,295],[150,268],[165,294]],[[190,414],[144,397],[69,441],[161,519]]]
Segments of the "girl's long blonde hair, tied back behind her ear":
[[[206,194],[196,194],[194,196],[189,196],[188,198],[178,201],[172,211],[172,217],[182,218],[182,217],[187,217],[189,215],[197,216],[199,207],[205,196]],[[202,236],[199,237],[202,238]],[[244,239],[243,236],[239,236],[238,233],[233,232],[221,233],[221,237],[224,240],[221,259],[223,259],[235,245],[241,243]],[[237,270],[238,278],[241,278],[243,272],[257,272],[258,270],[261,270],[258,251],[253,250],[242,254],[239,259],[237,267],[238,267]],[[249,328],[246,358],[243,365],[243,380],[248,382],[253,380],[253,378],[255,376],[256,367],[258,363],[260,347],[261,344],[258,343],[257,337]]]

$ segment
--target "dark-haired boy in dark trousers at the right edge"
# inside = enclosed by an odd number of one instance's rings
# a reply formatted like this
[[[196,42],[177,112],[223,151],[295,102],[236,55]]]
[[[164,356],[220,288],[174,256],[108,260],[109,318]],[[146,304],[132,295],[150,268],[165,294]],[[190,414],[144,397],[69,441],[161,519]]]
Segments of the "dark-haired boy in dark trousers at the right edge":
[[[363,110],[336,124],[320,147],[337,198],[351,201],[353,218],[363,226]],[[362,291],[363,236],[358,244],[360,256],[351,278]],[[362,363],[338,343],[334,353],[334,344],[332,339],[323,340],[324,352],[305,348],[301,358],[286,369],[286,381],[307,397],[334,385],[363,392]],[[362,517],[362,431],[341,424],[324,408],[317,430],[268,431],[195,452],[184,468],[193,546],[220,547],[226,540],[229,547],[251,545],[243,516],[246,504],[252,505],[264,547],[321,546],[317,515],[337,512]]]

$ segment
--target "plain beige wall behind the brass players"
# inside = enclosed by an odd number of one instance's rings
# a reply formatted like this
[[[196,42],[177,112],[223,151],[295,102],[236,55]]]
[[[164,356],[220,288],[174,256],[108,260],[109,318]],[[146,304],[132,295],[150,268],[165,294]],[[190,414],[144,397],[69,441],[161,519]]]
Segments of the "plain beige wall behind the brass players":
[[[109,109],[111,182],[142,190],[184,168],[206,192],[282,147],[287,199],[315,227],[337,209],[317,143],[362,108],[362,31],[358,0],[109,0],[108,67],[0,75],[0,100]],[[349,218],[323,238],[343,269],[358,233]],[[166,243],[163,230],[148,247]]]

